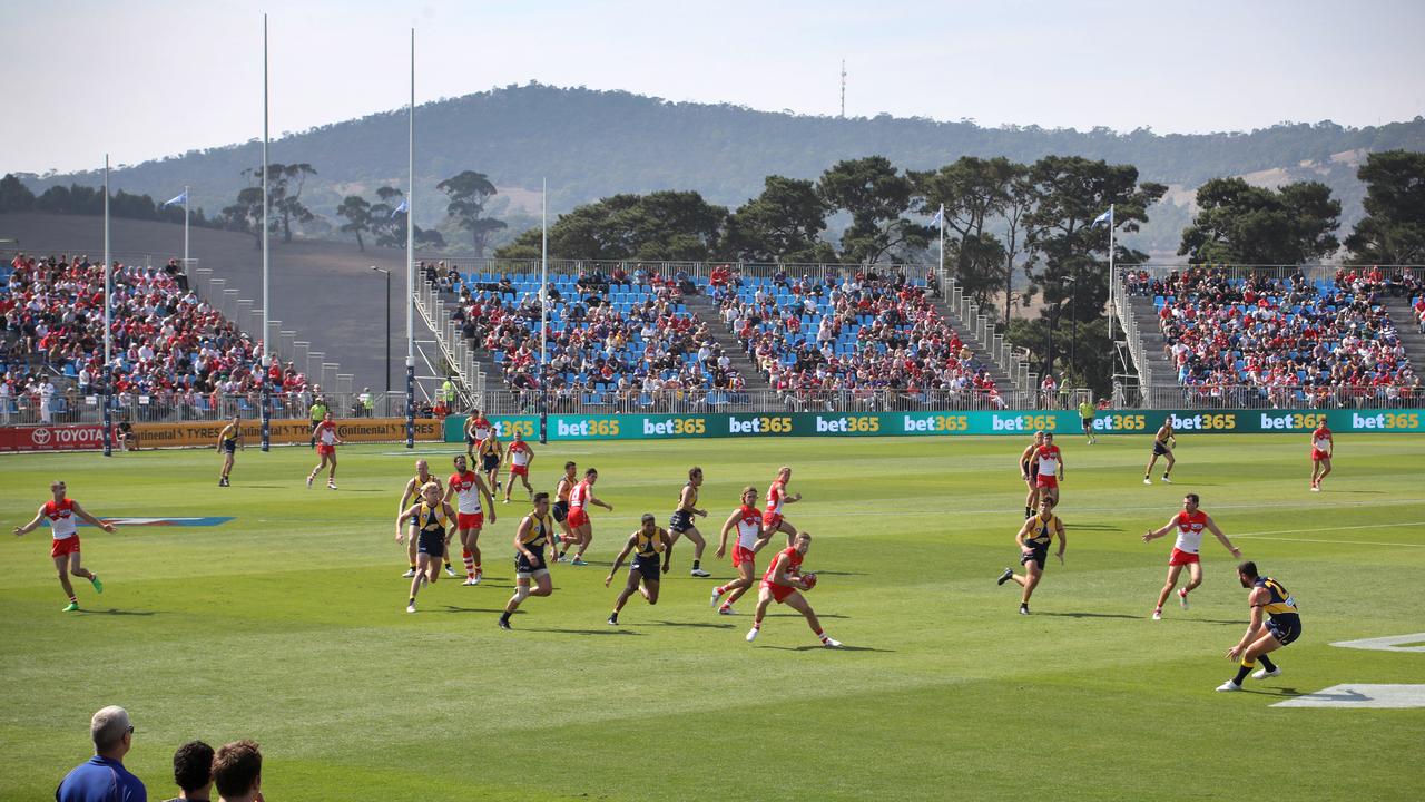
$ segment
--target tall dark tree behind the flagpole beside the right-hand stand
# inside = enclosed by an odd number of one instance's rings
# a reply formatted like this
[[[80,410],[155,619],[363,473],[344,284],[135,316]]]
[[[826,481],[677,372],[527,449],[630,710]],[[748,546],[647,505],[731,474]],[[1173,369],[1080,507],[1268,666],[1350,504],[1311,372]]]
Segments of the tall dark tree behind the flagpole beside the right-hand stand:
[[[1090,324],[1103,317],[1109,297],[1107,258],[1099,255],[1107,255],[1109,230],[1107,225],[1093,225],[1093,221],[1112,204],[1114,225],[1124,233],[1137,231],[1141,223],[1147,223],[1147,207],[1161,198],[1167,187],[1139,184],[1139,170],[1131,164],[1107,164],[1077,156],[1040,158],[1030,167],[1029,180],[1035,184],[1037,203],[1025,217],[1032,230],[1027,245],[1042,260],[1039,270],[1029,271],[1029,277],[1043,290],[1043,317],[1049,325],[1043,371],[1053,372],[1062,350],[1059,330],[1064,318],[1069,317],[1074,328]],[[1124,261],[1141,254],[1120,245],[1116,257]],[[1059,338],[1057,347],[1054,338]],[[1073,341],[1073,334],[1070,338]],[[1100,394],[1107,392],[1112,381],[1109,372],[1086,378]]]

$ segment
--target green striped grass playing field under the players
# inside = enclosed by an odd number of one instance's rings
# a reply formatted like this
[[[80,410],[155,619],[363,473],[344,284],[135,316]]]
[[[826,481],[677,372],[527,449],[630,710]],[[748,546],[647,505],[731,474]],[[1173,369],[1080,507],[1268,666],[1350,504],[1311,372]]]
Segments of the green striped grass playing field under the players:
[[[1409,756],[1425,709],[1270,705],[1344,682],[1425,682],[1425,654],[1331,646],[1425,631],[1425,491],[1411,435],[1344,435],[1325,492],[1307,492],[1305,435],[1196,435],[1177,484],[1141,484],[1147,438],[1064,438],[1067,564],[1033,599],[996,587],[1016,562],[1020,440],[844,438],[551,444],[600,469],[594,565],[557,567],[556,594],[496,628],[512,592],[497,505],[487,581],[442,579],[405,612],[396,492],[412,455],[348,447],[341,489],[305,489],[306,448],[0,458],[0,499],[23,524],[53,477],[103,517],[235,517],[219,527],[81,529],[103,597],[64,598],[48,528],[0,545],[0,799],[41,799],[90,753],[88,716],[128,708],[127,763],[150,798],[177,793],[191,738],[254,738],[268,799],[1418,799]],[[423,445],[440,475],[453,447]],[[667,521],[685,469],[705,469],[705,535],[748,482],[795,467],[787,509],[817,535],[808,598],[849,649],[817,645],[774,605],[755,646],[714,615],[717,579],[678,545],[663,599],[617,628],[607,565],[651,511]],[[1211,538],[1193,608],[1149,619],[1171,538],[1143,544],[1184,492],[1203,495],[1248,558],[1300,599],[1305,632],[1284,675],[1216,694],[1234,666],[1245,591]],[[519,494],[516,494],[519,498]],[[771,552],[764,552],[771,554]],[[711,558],[711,551],[708,552]],[[715,578],[731,577],[711,561]],[[1422,638],[1425,639],[1425,638]],[[779,779],[778,779],[779,778]]]

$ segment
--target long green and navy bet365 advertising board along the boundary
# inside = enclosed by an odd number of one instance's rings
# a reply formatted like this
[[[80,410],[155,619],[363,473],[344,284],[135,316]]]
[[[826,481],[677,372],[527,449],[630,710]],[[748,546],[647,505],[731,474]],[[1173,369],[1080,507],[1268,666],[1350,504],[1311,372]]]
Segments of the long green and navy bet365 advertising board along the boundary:
[[[1094,415],[1099,434],[1146,434],[1171,418],[1178,432],[1308,432],[1325,422],[1334,431],[1421,432],[1425,410],[1109,410]],[[500,438],[516,431],[539,437],[537,415],[493,417]],[[459,442],[463,415],[445,421],[447,442]],[[683,440],[698,437],[901,437],[1077,432],[1077,412],[787,412],[701,415],[550,415],[549,440]]]

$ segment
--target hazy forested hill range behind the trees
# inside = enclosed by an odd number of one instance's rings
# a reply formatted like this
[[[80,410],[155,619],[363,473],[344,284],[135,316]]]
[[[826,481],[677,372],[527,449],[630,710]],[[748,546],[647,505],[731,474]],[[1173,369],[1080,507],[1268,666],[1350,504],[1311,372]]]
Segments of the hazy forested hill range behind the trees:
[[[1322,121],[1251,133],[1160,136],[1147,128],[983,128],[970,121],[888,114],[795,116],[530,83],[419,106],[416,148],[418,224],[440,221],[445,203],[435,184],[469,168],[486,173],[500,187],[490,211],[510,221],[509,234],[533,223],[542,178],[549,178],[551,213],[614,193],[667,188],[697,190],[712,203],[738,205],[761,191],[765,176],[814,178],[842,158],[869,154],[916,170],[960,156],[1033,161],[1076,154],[1136,164],[1144,180],[1183,191],[1221,176],[1312,176],[1344,201],[1342,225],[1348,230],[1361,214],[1362,193],[1342,154],[1425,150],[1425,118],[1364,128]],[[195,205],[211,215],[232,203],[244,186],[242,171],[259,163],[259,153],[256,141],[188,151],[124,167],[111,176],[111,184],[164,198],[188,184]],[[304,197],[328,220],[308,234],[341,237],[329,223],[342,197],[373,197],[379,186],[405,186],[406,116],[388,111],[298,133],[275,141],[271,158],[305,161],[318,170]],[[95,173],[21,177],[36,193],[53,184],[97,183]],[[1176,250],[1186,208],[1159,211],[1159,223],[1144,230],[1137,245]]]

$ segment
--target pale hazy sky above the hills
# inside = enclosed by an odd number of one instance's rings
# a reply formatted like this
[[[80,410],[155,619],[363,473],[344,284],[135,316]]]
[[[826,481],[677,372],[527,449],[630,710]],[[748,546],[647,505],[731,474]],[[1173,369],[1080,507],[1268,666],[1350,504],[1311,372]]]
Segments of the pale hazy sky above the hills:
[[[851,117],[1157,133],[1425,114],[1425,3],[0,1],[0,173],[137,164],[536,80]],[[418,116],[419,121],[419,116]]]

